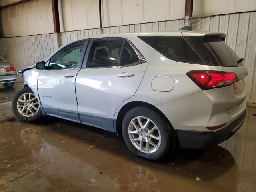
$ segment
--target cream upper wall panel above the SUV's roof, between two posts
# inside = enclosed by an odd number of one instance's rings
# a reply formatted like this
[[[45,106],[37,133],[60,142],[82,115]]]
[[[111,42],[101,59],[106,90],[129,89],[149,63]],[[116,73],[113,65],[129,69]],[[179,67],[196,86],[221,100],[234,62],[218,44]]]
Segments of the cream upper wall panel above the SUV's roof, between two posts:
[[[102,0],[102,26],[184,18],[185,0]]]

